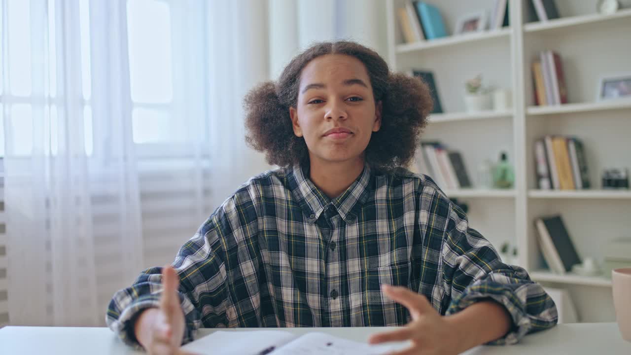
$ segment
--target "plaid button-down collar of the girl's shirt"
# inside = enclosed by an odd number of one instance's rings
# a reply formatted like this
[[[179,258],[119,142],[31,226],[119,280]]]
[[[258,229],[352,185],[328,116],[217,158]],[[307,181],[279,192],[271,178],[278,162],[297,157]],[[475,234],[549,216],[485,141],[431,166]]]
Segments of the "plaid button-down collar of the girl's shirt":
[[[308,223],[313,224],[328,205],[333,205],[346,223],[352,223],[357,219],[357,213],[369,196],[369,186],[372,178],[372,170],[369,164],[364,163],[362,173],[351,186],[333,199],[326,196],[324,192],[314,185],[300,165],[295,165],[292,170],[290,175],[295,180],[292,190],[298,198],[300,207],[305,212],[305,215],[308,216]]]

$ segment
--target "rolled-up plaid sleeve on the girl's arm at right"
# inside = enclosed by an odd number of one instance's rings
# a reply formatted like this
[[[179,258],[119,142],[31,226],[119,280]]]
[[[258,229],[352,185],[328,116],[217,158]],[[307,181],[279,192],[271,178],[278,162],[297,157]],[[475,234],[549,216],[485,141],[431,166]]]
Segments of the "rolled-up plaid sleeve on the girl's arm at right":
[[[488,299],[509,312],[512,328],[489,344],[514,344],[526,334],[557,324],[557,308],[543,287],[524,268],[503,263],[492,244],[469,227],[466,215],[455,205],[447,220],[442,260],[447,315]]]

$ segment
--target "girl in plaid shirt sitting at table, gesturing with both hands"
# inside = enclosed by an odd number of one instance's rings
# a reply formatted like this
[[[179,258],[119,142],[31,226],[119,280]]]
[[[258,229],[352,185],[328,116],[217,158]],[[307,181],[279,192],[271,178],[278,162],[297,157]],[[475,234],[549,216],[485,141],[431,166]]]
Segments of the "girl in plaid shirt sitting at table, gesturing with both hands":
[[[424,83],[325,42],[245,107],[249,143],[281,169],[242,185],[172,266],[114,295],[107,323],[128,344],[175,352],[199,327],[405,326],[371,342],[457,354],[556,324],[543,288],[402,168],[432,109]]]

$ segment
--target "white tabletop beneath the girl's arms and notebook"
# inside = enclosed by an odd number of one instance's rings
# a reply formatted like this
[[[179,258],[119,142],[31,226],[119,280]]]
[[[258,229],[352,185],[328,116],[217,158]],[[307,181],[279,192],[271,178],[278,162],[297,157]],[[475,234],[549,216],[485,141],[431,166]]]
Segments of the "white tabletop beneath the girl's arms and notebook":
[[[282,328],[296,335],[319,331],[337,337],[365,342],[370,334],[391,328]],[[226,329],[221,329],[226,330]],[[232,331],[256,330],[237,328]],[[266,328],[273,330],[273,328]],[[196,337],[214,329],[200,329]],[[114,336],[109,328],[4,327],[0,329],[0,354],[143,354],[133,351]],[[481,346],[466,352],[481,354],[631,354],[616,323],[560,324],[544,332],[527,335],[514,346]]]

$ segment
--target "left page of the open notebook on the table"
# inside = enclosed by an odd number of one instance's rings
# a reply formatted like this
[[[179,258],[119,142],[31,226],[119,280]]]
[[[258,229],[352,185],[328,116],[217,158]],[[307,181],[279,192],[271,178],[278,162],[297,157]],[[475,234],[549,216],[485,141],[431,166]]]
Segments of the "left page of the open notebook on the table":
[[[282,330],[256,330],[254,332],[217,331],[189,342],[182,349],[199,355],[266,355],[295,338]]]

